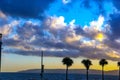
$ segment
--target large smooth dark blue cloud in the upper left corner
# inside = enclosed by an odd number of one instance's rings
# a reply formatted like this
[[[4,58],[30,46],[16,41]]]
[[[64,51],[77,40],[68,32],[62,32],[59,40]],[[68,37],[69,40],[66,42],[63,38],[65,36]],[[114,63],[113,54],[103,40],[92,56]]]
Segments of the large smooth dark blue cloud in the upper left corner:
[[[8,15],[42,18],[54,0],[0,0],[0,10]]]

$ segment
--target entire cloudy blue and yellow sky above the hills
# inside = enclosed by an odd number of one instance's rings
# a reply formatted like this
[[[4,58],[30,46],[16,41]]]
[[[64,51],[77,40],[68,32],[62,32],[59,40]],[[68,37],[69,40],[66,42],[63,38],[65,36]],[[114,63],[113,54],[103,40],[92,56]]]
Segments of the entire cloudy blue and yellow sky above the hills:
[[[0,0],[2,71],[39,69],[44,51],[46,69],[64,69],[64,57],[74,60],[70,69],[116,70],[120,60],[120,1],[118,0]],[[54,64],[54,65],[53,65]]]

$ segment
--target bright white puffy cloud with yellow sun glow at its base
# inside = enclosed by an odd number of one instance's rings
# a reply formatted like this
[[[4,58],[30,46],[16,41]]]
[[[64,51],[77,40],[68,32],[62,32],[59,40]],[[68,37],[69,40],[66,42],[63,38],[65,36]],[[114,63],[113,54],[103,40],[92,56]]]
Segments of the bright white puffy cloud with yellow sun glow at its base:
[[[95,39],[97,41],[103,41],[104,39],[106,39],[106,34],[104,32],[105,28],[103,27],[103,23],[104,17],[100,15],[98,20],[91,21],[89,26],[85,25],[83,27],[84,36],[90,39]]]

